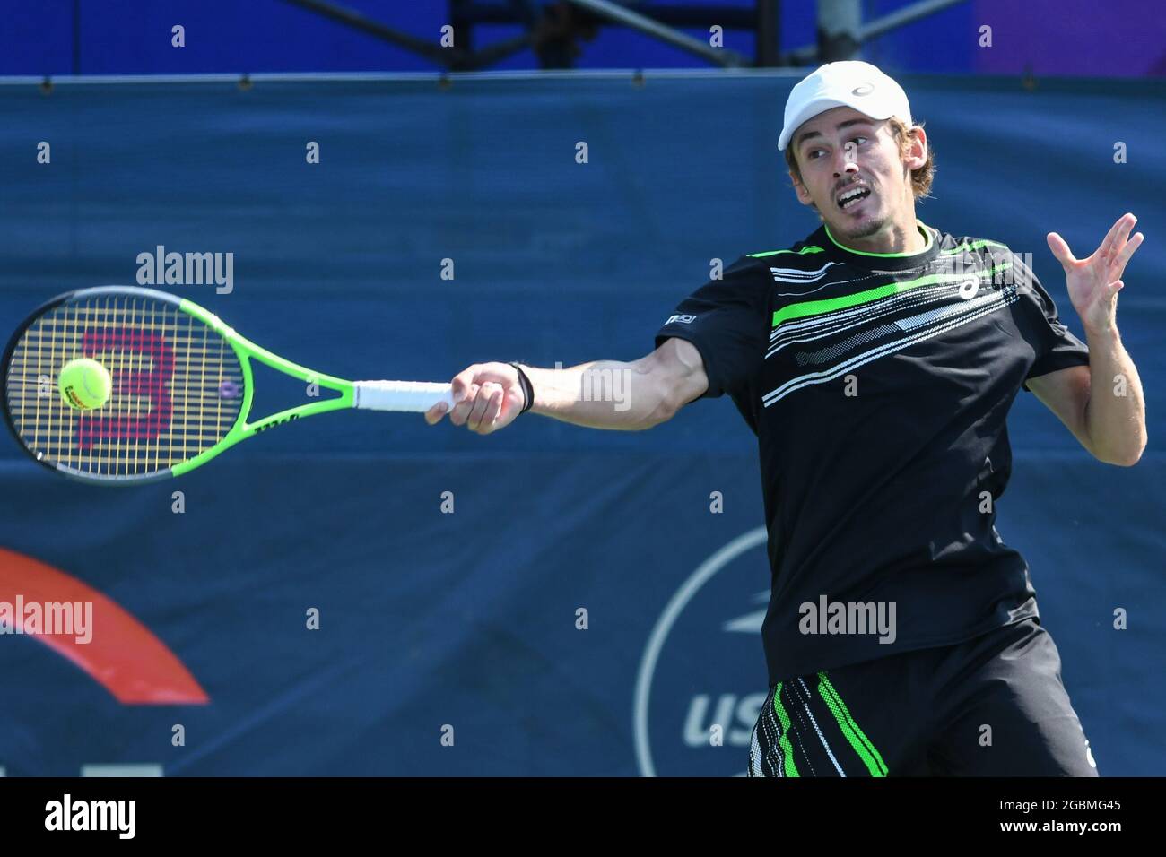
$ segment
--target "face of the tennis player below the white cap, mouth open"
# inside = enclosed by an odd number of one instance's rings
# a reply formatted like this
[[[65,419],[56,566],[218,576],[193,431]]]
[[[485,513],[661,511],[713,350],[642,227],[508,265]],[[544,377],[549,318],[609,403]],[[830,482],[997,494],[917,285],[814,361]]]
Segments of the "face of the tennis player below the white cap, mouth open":
[[[905,157],[887,120],[852,107],[820,113],[789,142],[801,170],[801,182],[794,178],[798,199],[815,205],[843,241],[868,238],[892,224],[913,224],[911,169],[926,160],[926,138],[922,129],[916,134]]]

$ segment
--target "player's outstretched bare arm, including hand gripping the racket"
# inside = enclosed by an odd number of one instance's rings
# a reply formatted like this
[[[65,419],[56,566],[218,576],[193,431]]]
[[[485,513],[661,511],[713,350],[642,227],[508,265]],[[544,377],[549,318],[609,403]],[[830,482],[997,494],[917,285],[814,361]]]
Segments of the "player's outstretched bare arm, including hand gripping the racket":
[[[670,338],[639,360],[593,360],[566,368],[522,366],[534,388],[531,410],[598,429],[641,430],[670,420],[698,399],[709,381],[704,361],[691,343]],[[522,409],[518,371],[506,363],[468,366],[454,377],[455,426],[487,435],[505,428]],[[444,405],[426,413],[430,426],[445,415]]]

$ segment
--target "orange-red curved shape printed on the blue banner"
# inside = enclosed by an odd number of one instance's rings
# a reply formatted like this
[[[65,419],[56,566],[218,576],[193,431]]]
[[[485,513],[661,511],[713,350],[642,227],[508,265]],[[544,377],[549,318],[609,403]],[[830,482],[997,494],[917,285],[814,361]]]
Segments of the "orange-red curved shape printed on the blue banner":
[[[17,596],[23,596],[26,604],[93,605],[89,642],[78,642],[71,634],[30,633],[29,637],[71,660],[124,705],[210,702],[178,656],[115,600],[64,571],[0,548],[0,602],[15,605]],[[23,617],[15,618],[23,631]],[[0,635],[0,641],[5,635]]]

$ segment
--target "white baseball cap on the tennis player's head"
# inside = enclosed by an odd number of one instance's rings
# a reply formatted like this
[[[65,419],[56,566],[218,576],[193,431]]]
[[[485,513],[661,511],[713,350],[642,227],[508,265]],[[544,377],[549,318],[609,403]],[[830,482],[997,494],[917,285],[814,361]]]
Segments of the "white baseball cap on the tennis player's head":
[[[845,59],[820,65],[798,82],[786,101],[778,148],[785,149],[803,122],[833,107],[854,107],[871,119],[899,117],[908,126],[914,124],[902,86],[870,63]]]

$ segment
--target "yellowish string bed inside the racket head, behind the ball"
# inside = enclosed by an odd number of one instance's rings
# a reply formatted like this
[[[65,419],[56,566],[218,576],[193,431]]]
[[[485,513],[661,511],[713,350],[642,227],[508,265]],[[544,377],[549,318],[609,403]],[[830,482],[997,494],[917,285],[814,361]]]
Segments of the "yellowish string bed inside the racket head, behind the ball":
[[[57,389],[62,366],[89,357],[112,391],[92,412]],[[36,318],[8,364],[6,396],[21,440],[42,459],[93,477],[141,477],[192,458],[231,430],[243,406],[234,350],[177,305],[104,294]]]

